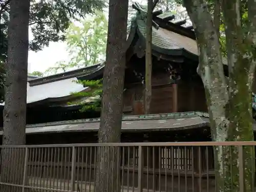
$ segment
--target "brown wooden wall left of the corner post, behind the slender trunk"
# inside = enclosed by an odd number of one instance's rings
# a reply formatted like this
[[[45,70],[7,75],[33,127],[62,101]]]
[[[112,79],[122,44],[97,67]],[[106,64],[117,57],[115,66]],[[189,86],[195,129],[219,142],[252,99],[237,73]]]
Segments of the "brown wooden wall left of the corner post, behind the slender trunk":
[[[151,114],[176,112],[175,85],[170,84],[167,72],[160,72],[152,76]],[[133,83],[126,86],[124,92],[125,115],[142,115],[144,86],[142,83]]]

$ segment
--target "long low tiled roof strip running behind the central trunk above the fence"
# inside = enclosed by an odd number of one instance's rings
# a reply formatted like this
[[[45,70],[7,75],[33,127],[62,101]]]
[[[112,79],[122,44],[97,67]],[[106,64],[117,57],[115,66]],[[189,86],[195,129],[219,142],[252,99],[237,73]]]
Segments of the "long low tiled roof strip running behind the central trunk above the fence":
[[[206,118],[205,118],[206,117]],[[82,119],[28,125],[27,134],[97,131],[99,119]],[[174,131],[193,129],[208,124],[207,114],[201,112],[172,113],[158,115],[124,116],[122,131]],[[3,131],[0,131],[0,135]]]

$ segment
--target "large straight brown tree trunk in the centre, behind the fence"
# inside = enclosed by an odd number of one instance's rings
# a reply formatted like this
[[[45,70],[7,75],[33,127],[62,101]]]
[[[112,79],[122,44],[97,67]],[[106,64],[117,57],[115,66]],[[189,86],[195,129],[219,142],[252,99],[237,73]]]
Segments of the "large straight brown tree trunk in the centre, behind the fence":
[[[103,74],[103,96],[100,117],[99,142],[120,142],[123,86],[125,69],[125,43],[128,0],[110,0],[109,31],[106,62]],[[101,147],[96,172],[96,191],[120,191],[119,157],[117,147]]]

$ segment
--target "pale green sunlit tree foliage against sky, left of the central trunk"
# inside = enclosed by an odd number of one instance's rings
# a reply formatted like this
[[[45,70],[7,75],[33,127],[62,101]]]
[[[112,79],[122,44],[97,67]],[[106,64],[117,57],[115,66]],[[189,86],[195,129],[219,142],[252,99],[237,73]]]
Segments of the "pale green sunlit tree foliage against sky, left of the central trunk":
[[[66,33],[70,61],[59,61],[47,73],[66,72],[69,69],[87,67],[105,59],[108,20],[104,13],[80,20],[80,25],[71,24]]]

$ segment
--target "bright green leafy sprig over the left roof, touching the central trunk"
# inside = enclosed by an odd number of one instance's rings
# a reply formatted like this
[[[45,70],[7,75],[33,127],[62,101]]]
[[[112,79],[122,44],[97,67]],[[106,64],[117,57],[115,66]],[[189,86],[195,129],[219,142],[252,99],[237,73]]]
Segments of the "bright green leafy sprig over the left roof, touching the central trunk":
[[[77,80],[74,81],[78,84],[82,84],[83,87],[88,87],[86,92],[72,93],[73,96],[79,98],[87,98],[86,101],[69,102],[68,104],[82,105],[81,112],[84,111],[98,111],[100,110],[101,98],[102,98],[102,79],[99,80]]]

